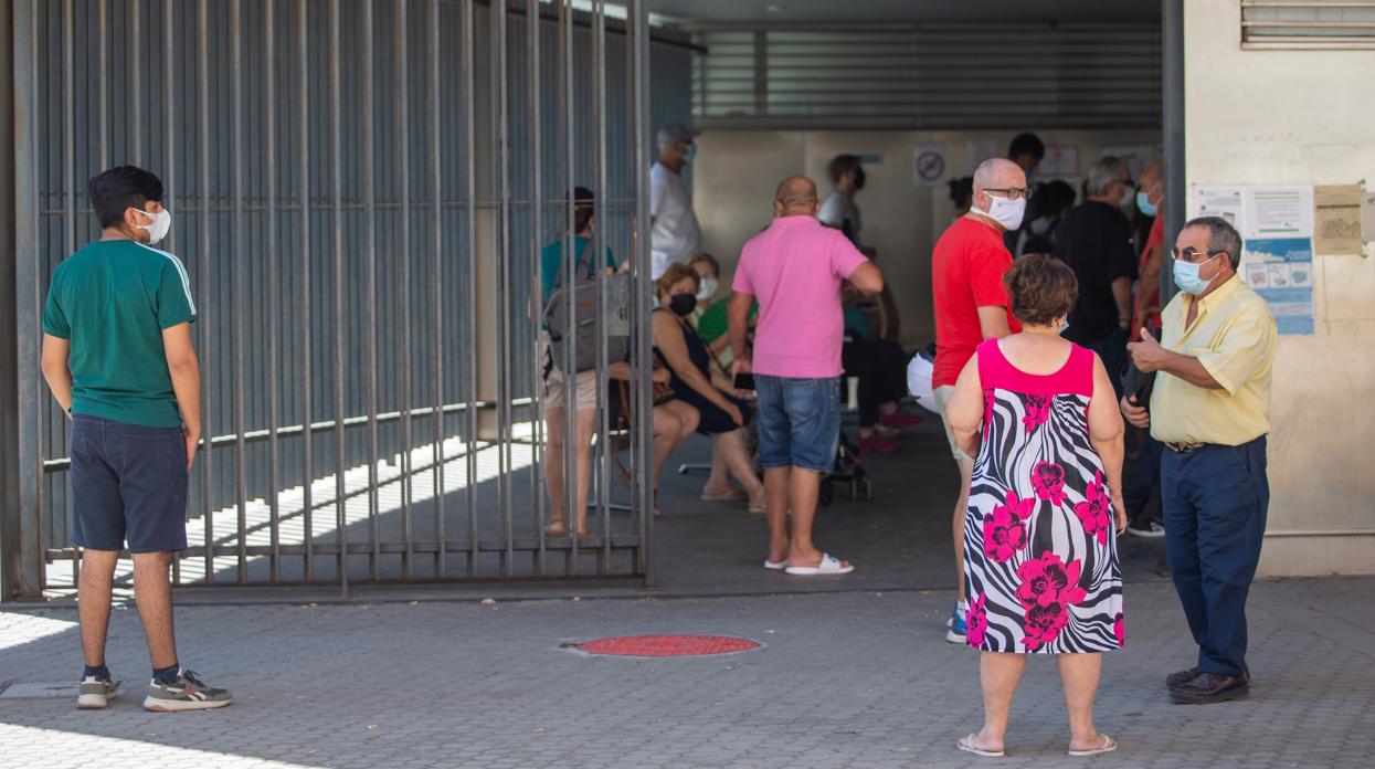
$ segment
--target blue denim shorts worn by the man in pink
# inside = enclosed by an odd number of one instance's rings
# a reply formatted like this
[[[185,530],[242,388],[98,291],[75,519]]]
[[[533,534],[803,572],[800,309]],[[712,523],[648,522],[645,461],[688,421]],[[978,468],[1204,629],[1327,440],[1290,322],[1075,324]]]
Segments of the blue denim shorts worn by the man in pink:
[[[829,473],[840,444],[840,377],[793,380],[755,374],[759,464]]]

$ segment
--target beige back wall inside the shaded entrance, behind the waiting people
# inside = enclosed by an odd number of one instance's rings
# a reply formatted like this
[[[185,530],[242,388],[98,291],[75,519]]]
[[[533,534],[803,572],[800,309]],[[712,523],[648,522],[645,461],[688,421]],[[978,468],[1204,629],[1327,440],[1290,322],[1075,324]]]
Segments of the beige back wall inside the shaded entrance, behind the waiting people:
[[[1079,173],[1104,144],[1158,144],[1152,131],[1038,131],[1046,144],[1079,150]],[[714,131],[697,139],[693,206],[703,246],[720,261],[729,279],[740,246],[769,224],[778,182],[806,173],[826,194],[826,162],[840,153],[879,154],[865,165],[865,188],[855,201],[864,217],[862,238],[879,250],[902,322],[902,341],[920,347],[935,338],[931,315],[931,246],[954,213],[949,190],[913,184],[917,144],[945,144],[950,175],[967,176],[968,139],[996,139],[1002,151],[1013,132],[962,131]],[[1078,187],[1078,182],[1074,182]]]

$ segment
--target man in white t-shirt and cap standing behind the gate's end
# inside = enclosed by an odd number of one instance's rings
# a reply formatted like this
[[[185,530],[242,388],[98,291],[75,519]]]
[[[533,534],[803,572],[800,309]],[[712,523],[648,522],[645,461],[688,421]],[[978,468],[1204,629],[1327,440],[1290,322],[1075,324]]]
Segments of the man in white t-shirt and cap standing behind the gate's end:
[[[659,129],[659,162],[649,169],[649,254],[654,279],[675,261],[686,263],[701,250],[701,230],[682,169],[697,147],[697,131],[670,122]]]

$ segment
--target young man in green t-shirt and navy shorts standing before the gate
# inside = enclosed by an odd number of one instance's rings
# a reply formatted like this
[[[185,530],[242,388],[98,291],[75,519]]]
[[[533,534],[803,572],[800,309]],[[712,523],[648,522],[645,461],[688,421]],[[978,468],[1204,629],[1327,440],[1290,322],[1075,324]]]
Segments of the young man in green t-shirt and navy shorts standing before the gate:
[[[162,182],[121,165],[88,187],[100,239],[52,274],[43,311],[43,376],[72,418],[72,541],[85,671],[77,707],[102,708],[120,684],[104,664],[114,567],[133,557],[133,592],[153,660],[143,707],[166,713],[234,702],[177,663],[168,568],[186,549],[187,475],[201,440],[195,301],[166,235]]]

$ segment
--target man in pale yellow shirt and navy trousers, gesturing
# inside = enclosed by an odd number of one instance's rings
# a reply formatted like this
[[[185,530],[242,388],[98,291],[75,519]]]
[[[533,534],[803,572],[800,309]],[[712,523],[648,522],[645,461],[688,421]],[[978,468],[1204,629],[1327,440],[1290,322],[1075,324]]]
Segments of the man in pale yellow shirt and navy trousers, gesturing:
[[[1255,576],[1270,491],[1275,319],[1236,274],[1242,238],[1225,220],[1194,219],[1174,245],[1180,288],[1160,314],[1163,337],[1129,345],[1159,371],[1150,411],[1132,395],[1122,413],[1165,443],[1160,508],[1174,589],[1199,645],[1198,664],[1166,678],[1176,703],[1244,697],[1246,596]]]

